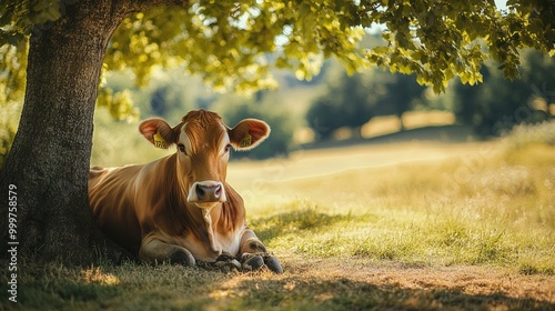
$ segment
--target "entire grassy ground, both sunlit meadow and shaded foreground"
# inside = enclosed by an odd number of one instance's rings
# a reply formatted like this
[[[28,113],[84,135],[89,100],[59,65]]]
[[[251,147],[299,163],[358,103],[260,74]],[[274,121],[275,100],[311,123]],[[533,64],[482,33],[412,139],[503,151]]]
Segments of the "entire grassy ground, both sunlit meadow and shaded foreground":
[[[535,131],[555,130],[541,127],[428,161],[405,143],[232,164],[284,274],[21,262],[19,302],[0,309],[554,310],[555,146]]]

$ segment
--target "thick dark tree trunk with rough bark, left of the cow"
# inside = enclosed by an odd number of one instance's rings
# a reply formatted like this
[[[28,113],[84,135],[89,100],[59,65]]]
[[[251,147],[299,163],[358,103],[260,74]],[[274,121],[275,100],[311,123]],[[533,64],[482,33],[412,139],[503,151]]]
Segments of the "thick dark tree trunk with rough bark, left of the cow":
[[[8,235],[2,217],[1,234],[17,239],[18,257],[83,263],[97,237],[87,184],[100,70],[125,10],[112,1],[72,2],[30,38],[23,111],[0,173],[2,205],[16,187],[17,232]]]

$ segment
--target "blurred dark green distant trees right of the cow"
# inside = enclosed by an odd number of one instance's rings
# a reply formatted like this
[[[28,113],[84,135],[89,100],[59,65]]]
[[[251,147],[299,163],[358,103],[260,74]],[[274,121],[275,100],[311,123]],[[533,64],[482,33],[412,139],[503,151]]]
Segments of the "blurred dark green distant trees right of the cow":
[[[306,112],[306,122],[319,139],[331,139],[340,128],[360,128],[380,116],[401,119],[412,110],[445,110],[460,124],[471,126],[482,137],[498,136],[519,123],[535,123],[554,117],[555,60],[537,51],[522,56],[521,78],[507,80],[493,61],[481,69],[483,82],[452,81],[445,93],[433,94],[414,76],[371,69],[347,76],[336,73],[325,81],[326,91]]]

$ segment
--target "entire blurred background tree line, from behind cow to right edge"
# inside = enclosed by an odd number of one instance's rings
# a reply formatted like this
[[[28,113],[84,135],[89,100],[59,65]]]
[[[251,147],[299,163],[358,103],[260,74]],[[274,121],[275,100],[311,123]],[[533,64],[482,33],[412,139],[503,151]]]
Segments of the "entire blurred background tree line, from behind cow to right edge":
[[[159,71],[145,87],[138,87],[129,74],[110,72],[110,89],[115,94],[128,94],[120,101],[115,98],[113,102],[119,104],[105,108],[111,116],[118,116],[114,122],[158,116],[178,123],[185,111],[196,108],[219,111],[229,126],[243,118],[266,120],[272,127],[269,140],[250,152],[235,153],[234,159],[287,156],[299,147],[294,134],[302,127],[310,128],[316,140],[329,140],[337,129],[350,128],[360,133],[361,127],[375,117],[396,116],[401,120],[398,130],[403,130],[403,113],[414,110],[451,111],[460,124],[471,126],[484,137],[502,134],[518,123],[553,118],[553,58],[532,50],[523,52],[521,79],[513,81],[504,78],[497,67],[488,61],[481,69],[482,83],[468,86],[456,79],[438,96],[420,86],[415,76],[379,68],[349,76],[334,60],[325,61],[321,73],[310,81],[276,72],[281,86],[278,90],[259,91],[251,97],[213,92],[198,78],[183,78],[180,69]],[[296,100],[291,96],[294,92],[302,98]],[[13,139],[19,109],[6,106],[3,112],[2,157]],[[103,127],[109,128],[110,122]]]

